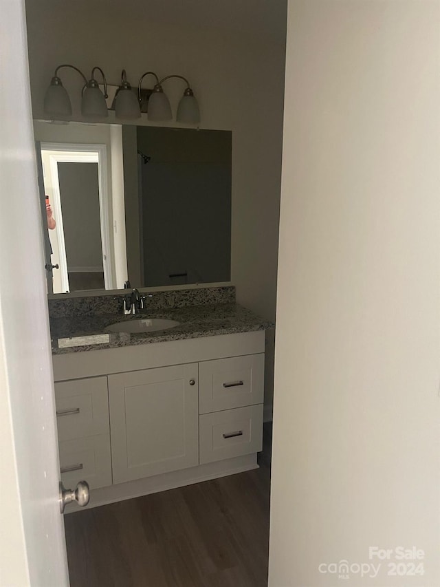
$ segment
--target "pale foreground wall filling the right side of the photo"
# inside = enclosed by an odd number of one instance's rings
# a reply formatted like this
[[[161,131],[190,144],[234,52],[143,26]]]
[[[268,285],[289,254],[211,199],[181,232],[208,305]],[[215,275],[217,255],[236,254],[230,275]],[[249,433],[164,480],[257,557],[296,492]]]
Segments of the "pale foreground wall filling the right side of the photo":
[[[289,3],[270,587],[440,584],[439,33],[438,1]],[[318,570],[369,546],[425,575]]]

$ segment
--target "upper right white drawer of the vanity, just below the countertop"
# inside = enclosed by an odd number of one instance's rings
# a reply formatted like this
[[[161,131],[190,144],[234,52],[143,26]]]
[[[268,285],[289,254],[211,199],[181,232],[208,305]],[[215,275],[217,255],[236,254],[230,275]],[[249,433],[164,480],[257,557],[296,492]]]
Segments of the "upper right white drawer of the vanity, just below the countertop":
[[[263,403],[264,353],[199,363],[200,414]]]

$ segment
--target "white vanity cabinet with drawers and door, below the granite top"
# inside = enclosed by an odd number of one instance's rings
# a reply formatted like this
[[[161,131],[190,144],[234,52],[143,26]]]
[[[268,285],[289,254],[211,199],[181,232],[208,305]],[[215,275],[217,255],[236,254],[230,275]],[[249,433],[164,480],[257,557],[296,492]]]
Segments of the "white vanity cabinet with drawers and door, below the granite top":
[[[90,506],[254,469],[263,331],[54,355],[65,487]]]

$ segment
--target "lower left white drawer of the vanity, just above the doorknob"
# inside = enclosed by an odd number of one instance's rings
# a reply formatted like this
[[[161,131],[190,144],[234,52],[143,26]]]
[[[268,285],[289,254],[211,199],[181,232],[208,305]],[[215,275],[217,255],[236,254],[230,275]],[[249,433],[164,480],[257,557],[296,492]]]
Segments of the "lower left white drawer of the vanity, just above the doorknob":
[[[109,434],[64,440],[59,448],[65,487],[75,487],[81,480],[86,480],[91,489],[111,485]]]

